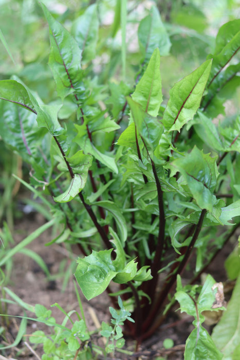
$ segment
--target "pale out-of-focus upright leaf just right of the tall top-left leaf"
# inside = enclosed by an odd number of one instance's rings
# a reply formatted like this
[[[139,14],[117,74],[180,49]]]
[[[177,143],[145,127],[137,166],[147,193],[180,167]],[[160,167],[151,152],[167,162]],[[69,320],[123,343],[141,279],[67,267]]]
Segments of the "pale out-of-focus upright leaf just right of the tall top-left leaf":
[[[71,33],[82,50],[82,63],[96,58],[99,20],[97,5],[87,7],[84,14],[79,16],[72,24]]]

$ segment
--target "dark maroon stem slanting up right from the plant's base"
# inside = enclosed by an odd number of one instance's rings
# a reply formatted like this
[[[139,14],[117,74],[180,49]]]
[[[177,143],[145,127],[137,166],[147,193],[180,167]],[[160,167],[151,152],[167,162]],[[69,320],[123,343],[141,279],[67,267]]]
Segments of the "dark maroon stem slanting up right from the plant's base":
[[[166,283],[165,286],[163,287],[163,290],[158,295],[158,298],[156,300],[156,303],[154,305],[152,312],[149,314],[149,317],[147,318],[145,323],[143,323],[143,332],[145,331],[145,333],[143,334],[141,340],[151,336],[154,333],[154,331],[159,327],[160,323],[162,322],[162,319],[160,318],[157,322],[154,323],[154,319],[157,315],[157,312],[159,311],[159,308],[162,307],[162,304],[165,302],[166,298],[168,297],[169,292],[171,291],[173,285],[175,284],[177,275],[182,273],[184,267],[186,266],[186,264],[188,262],[189,256],[193,249],[193,246],[194,246],[194,244],[198,238],[199,232],[201,230],[201,226],[204,221],[206,212],[207,212],[206,209],[201,211],[201,215],[200,215],[199,221],[196,225],[192,240],[184,254],[182,261],[180,262],[180,264],[178,266],[177,271],[175,272],[175,274],[172,275],[171,280],[168,283]],[[151,326],[152,323],[154,323],[153,326]]]

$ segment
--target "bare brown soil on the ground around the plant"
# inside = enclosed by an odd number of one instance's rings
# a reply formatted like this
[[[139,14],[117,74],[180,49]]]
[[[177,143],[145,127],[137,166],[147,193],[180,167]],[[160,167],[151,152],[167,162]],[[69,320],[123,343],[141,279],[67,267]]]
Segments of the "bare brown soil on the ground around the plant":
[[[33,230],[41,226],[45,222],[44,218],[40,214],[34,214],[30,217],[25,217],[24,220],[19,221],[15,226],[14,241],[19,243]],[[50,247],[46,247],[45,243],[53,238],[52,229],[45,231],[39,238],[35,239],[28,248],[39,254],[47,264],[51,275],[57,275],[61,273],[65,274],[68,266],[70,265],[69,254],[62,245],[52,244]],[[214,261],[211,265],[211,273],[216,281],[225,281],[226,274],[224,271],[224,260],[226,256],[232,250],[233,245],[229,244],[225,247],[223,253]],[[74,249],[73,249],[74,251]],[[76,258],[78,250],[76,248]],[[67,259],[67,260],[66,260]],[[58,302],[59,305],[66,311],[76,310],[80,313],[79,305],[73,285],[73,276],[71,275],[67,283],[66,289],[62,291],[63,277],[57,278],[56,280],[48,281],[46,275],[42,269],[29,257],[23,254],[16,254],[13,259],[13,269],[11,282],[8,284],[17,296],[23,301],[29,304],[40,303],[43,304],[47,309],[51,309],[52,315],[56,320],[61,323],[64,315],[56,307],[50,308],[50,305]],[[63,266],[63,262],[66,262]],[[81,294],[83,308],[85,311],[85,317],[87,320],[89,330],[94,330],[98,327],[98,322],[102,320],[109,321],[108,307],[110,301],[106,294],[102,294],[97,298],[87,301]],[[17,305],[9,305],[8,314],[13,316],[24,315],[23,310]],[[34,317],[34,314],[27,312],[27,316]],[[74,317],[73,317],[74,319]],[[127,357],[121,353],[117,353],[116,359],[156,359],[157,356],[163,356],[165,359],[181,360],[183,359],[184,343],[193,330],[192,326],[193,318],[188,316],[180,316],[178,313],[173,312],[165,323],[152,338],[147,339],[138,349],[139,356]],[[11,317],[10,327],[6,332],[7,343],[2,340],[3,345],[9,345],[13,343],[13,340],[17,334],[21,318]],[[3,359],[12,358],[17,360],[34,360],[38,358],[34,355],[27,345],[29,343],[29,337],[35,330],[49,331],[42,323],[28,321],[27,335],[24,340],[17,346],[17,348],[11,348],[6,350]],[[171,338],[174,341],[174,348],[166,350],[163,348],[162,343],[165,338]],[[26,341],[27,345],[24,343]],[[96,341],[100,341],[96,339]],[[101,345],[101,344],[99,344]],[[126,340],[126,349],[133,351],[134,343],[131,339]],[[19,350],[21,352],[19,353]],[[43,354],[41,346],[35,348],[35,353],[41,358]],[[0,359],[2,357],[0,355]]]

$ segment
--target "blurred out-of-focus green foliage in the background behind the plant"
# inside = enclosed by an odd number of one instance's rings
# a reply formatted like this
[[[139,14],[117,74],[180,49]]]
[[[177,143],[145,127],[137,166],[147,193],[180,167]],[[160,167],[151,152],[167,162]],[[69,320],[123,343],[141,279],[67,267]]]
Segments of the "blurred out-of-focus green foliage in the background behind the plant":
[[[149,14],[152,5],[156,5],[172,44],[169,55],[161,57],[164,103],[167,103],[169,88],[204,62],[213,51],[219,27],[240,17],[239,0],[128,0],[124,76],[121,69],[121,0],[44,0],[43,3],[70,32],[74,32],[75,20],[87,7],[97,3],[99,30],[94,35],[98,56],[87,64],[89,75],[96,76],[96,88],[109,80],[116,84],[121,80],[130,86],[135,84],[136,74],[141,71],[137,37],[139,22]],[[0,79],[17,75],[45,103],[60,101],[48,66],[49,29],[38,2],[0,0],[0,30]],[[3,45],[4,41],[12,58]],[[239,79],[236,77],[235,81]],[[233,94],[228,94],[225,88],[223,96],[226,100],[233,99],[223,110],[231,116],[232,107],[236,108],[239,103],[239,90],[232,97]],[[64,118],[64,114],[61,116]],[[20,175],[22,163],[10,149],[6,149],[1,139],[0,150],[0,222],[7,220],[12,227],[13,213],[16,213],[13,199],[19,187],[11,174]]]

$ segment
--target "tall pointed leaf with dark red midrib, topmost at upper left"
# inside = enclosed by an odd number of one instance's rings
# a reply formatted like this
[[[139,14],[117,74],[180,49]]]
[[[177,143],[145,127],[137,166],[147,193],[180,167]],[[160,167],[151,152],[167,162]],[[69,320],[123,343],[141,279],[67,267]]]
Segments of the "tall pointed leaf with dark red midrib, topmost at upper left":
[[[58,95],[63,100],[67,95],[82,95],[81,50],[71,34],[50,14],[41,3],[50,29],[49,66],[57,85]],[[78,98],[77,98],[78,99]]]

